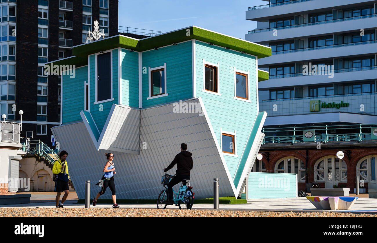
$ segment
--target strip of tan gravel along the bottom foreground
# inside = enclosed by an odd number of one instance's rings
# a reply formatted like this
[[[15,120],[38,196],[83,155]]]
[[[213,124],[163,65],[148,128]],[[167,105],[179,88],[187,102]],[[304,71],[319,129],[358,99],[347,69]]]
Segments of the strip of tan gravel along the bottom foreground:
[[[0,208],[0,217],[377,217],[349,212],[266,212],[146,208]]]

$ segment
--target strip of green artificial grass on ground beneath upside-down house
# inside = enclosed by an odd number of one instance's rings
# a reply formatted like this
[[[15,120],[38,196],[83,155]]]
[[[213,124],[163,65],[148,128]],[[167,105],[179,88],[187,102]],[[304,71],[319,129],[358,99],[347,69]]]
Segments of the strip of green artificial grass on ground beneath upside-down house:
[[[93,199],[90,199],[90,203]],[[117,203],[140,203],[140,204],[156,204],[156,199],[116,199]],[[85,203],[85,199],[79,199],[77,203]],[[111,199],[98,199],[97,203],[113,203]],[[235,197],[220,197],[219,204],[241,204],[247,203],[246,199],[236,199]],[[213,198],[194,199],[194,204],[213,204]]]

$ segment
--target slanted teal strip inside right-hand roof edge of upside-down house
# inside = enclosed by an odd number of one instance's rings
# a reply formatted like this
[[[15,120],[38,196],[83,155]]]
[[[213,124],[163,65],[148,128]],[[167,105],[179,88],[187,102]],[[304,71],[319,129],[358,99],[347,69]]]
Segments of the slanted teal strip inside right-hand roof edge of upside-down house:
[[[259,114],[257,115],[257,117],[254,121],[254,124],[253,124],[253,128],[251,129],[250,136],[249,136],[247,143],[245,145],[244,153],[242,154],[242,157],[241,157],[241,160],[239,162],[236,174],[234,175],[234,179],[233,179],[234,186],[236,186],[236,188],[237,188],[238,184],[240,183],[241,175],[242,175],[242,172],[244,171],[245,164],[246,164],[246,161],[247,161],[247,157],[250,154],[250,150],[251,150],[251,147],[253,146],[253,142],[254,142],[255,139],[258,139],[258,137],[259,137],[258,134],[261,132],[259,130],[259,126],[262,123],[263,115],[264,115],[264,112],[259,112]]]

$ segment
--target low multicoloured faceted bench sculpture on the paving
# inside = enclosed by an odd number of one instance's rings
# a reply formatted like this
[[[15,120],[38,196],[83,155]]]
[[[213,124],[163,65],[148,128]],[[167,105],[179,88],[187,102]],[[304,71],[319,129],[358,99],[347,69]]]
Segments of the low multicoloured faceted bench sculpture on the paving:
[[[309,196],[307,199],[317,209],[348,210],[359,197],[315,197]]]

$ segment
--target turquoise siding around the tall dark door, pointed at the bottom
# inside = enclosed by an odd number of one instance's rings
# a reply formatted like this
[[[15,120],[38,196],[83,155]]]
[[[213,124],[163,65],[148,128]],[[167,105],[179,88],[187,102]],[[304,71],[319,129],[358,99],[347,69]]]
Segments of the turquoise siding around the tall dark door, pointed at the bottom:
[[[113,101],[107,101],[100,104],[93,104],[95,102],[95,55],[90,55],[90,113],[93,120],[98,127],[100,133],[109,115],[113,104],[118,104],[118,49],[112,50],[112,71],[113,71]]]

